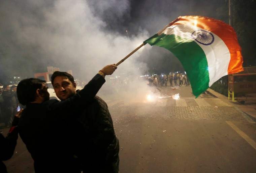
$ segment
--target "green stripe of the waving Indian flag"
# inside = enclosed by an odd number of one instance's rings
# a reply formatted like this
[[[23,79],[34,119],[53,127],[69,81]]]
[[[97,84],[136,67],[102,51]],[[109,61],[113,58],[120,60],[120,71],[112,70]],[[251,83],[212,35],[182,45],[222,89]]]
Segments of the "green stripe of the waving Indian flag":
[[[168,49],[180,60],[196,97],[209,88],[207,59],[204,51],[196,42],[191,39],[183,39],[177,35],[161,34],[158,36],[156,34],[144,43]]]

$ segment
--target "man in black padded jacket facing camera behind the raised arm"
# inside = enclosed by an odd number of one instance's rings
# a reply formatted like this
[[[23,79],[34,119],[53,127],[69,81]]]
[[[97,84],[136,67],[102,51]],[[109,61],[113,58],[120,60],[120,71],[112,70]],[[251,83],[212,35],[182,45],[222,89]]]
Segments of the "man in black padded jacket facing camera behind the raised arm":
[[[76,91],[73,76],[67,72],[55,71],[51,82],[61,101],[80,92]],[[71,118],[67,120],[68,124],[73,125],[70,125],[69,131],[76,128],[77,132],[72,133],[80,135],[75,137],[78,139],[75,143],[76,155],[81,160],[83,172],[118,173],[119,141],[107,104],[100,97],[95,96],[78,119]]]

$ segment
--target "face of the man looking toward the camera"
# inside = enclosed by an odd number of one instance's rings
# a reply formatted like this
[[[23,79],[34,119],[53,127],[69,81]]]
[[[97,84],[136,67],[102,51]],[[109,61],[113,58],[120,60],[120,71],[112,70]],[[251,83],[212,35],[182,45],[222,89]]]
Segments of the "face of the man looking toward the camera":
[[[76,84],[73,84],[66,76],[55,77],[53,88],[60,100],[66,100],[76,94]]]

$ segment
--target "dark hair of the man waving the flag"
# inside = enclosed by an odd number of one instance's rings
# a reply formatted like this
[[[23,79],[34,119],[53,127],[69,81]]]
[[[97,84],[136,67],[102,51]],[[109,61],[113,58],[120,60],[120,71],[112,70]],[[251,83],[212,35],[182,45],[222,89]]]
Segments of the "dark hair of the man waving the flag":
[[[28,103],[35,101],[36,90],[41,90],[42,85],[45,82],[45,80],[36,78],[28,78],[21,80],[17,86],[17,96],[19,102],[23,105],[27,105]]]

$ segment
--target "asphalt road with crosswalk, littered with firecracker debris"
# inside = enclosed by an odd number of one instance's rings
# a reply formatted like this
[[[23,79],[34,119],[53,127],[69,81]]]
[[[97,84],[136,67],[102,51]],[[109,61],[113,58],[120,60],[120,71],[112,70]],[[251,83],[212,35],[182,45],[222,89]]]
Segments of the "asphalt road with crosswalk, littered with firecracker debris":
[[[255,172],[254,121],[226,100],[195,99],[190,86],[160,89],[99,93],[120,141],[120,173]],[[4,162],[9,173],[34,172],[20,138],[15,151]]]

